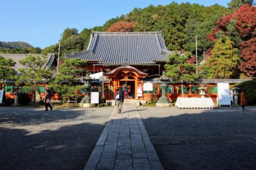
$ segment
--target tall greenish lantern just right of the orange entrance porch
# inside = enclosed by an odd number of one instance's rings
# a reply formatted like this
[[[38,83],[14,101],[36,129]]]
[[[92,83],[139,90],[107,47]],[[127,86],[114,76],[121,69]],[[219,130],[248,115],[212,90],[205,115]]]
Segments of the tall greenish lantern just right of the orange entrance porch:
[[[158,99],[156,106],[164,107],[164,106],[172,106],[171,101],[166,97],[166,89],[168,87],[167,81],[169,80],[168,76],[163,75],[159,79],[161,81],[160,89],[162,90],[162,96]]]

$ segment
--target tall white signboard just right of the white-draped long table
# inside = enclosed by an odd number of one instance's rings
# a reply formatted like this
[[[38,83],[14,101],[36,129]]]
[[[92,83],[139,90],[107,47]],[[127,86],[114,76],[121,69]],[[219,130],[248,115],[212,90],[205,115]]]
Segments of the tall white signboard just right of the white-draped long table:
[[[218,83],[218,100],[219,105],[230,105],[230,90],[228,83]]]

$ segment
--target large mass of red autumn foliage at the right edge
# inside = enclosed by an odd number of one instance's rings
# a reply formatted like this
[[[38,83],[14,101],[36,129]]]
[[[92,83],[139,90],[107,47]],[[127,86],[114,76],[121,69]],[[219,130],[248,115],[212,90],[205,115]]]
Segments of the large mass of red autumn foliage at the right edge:
[[[207,35],[209,41],[216,41],[216,33],[222,31],[228,36],[227,26],[231,20],[236,21],[236,31],[242,41],[239,45],[241,58],[239,69],[250,77],[256,76],[256,7],[244,4],[233,14],[221,17],[216,27]]]

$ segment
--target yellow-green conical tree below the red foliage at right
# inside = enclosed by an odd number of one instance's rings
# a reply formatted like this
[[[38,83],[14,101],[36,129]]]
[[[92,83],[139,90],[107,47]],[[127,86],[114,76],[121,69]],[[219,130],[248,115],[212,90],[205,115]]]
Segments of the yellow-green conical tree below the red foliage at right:
[[[225,37],[225,43],[218,39],[207,61],[211,78],[236,78],[239,64],[239,50],[233,47],[230,37]]]

